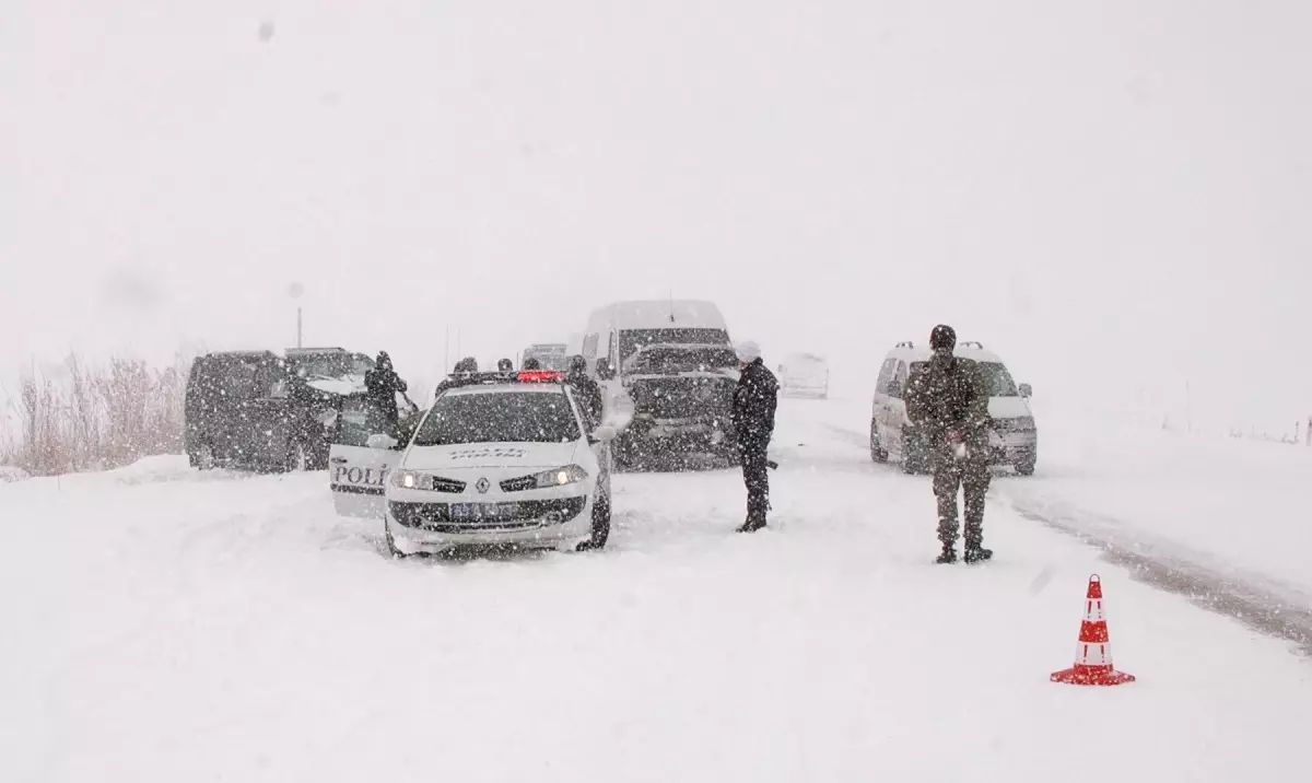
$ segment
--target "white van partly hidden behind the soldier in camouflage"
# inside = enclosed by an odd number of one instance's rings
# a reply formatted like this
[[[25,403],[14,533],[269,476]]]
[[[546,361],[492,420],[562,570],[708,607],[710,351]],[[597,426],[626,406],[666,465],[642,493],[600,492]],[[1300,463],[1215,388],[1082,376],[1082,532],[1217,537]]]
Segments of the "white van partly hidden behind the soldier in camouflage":
[[[1013,466],[1022,476],[1034,473],[1039,456],[1039,432],[1030,408],[1030,384],[1017,386],[1002,359],[979,342],[958,342],[953,353],[977,362],[991,388],[989,464]],[[907,473],[929,470],[925,445],[907,418],[903,392],[912,369],[928,362],[932,354],[928,345],[899,342],[884,358],[875,384],[870,412],[870,456],[875,462],[899,462]]]

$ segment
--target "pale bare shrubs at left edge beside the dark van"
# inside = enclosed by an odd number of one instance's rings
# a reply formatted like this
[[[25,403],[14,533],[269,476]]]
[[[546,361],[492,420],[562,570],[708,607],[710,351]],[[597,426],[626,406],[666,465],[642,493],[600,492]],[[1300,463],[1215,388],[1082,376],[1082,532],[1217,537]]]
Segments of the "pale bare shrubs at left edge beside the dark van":
[[[33,367],[18,387],[17,438],[0,439],[0,463],[34,476],[104,470],[182,451],[190,357],[151,367],[115,357],[88,365],[70,355],[60,378]]]

